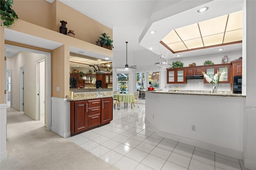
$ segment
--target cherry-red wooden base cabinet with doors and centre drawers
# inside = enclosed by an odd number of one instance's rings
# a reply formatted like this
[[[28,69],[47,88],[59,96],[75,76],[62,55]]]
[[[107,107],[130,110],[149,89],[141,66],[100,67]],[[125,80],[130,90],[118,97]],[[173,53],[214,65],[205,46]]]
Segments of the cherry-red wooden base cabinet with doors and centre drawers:
[[[70,101],[70,136],[110,123],[113,98]]]

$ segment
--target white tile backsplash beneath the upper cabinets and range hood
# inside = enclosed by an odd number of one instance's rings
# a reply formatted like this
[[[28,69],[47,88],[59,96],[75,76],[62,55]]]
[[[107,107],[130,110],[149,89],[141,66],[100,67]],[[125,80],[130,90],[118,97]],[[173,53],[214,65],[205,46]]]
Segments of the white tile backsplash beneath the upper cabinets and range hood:
[[[203,79],[187,80],[187,84],[168,84],[169,89],[178,87],[180,90],[212,90],[211,83],[204,83]],[[168,86],[167,86],[168,87]],[[231,83],[220,83],[217,91],[231,91]]]

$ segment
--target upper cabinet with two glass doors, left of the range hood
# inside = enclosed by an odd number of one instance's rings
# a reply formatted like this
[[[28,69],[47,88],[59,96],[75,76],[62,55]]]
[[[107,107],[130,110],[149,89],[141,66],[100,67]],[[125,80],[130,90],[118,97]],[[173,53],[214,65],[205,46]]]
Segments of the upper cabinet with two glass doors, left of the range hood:
[[[167,84],[171,83],[186,83],[185,69],[166,69]]]

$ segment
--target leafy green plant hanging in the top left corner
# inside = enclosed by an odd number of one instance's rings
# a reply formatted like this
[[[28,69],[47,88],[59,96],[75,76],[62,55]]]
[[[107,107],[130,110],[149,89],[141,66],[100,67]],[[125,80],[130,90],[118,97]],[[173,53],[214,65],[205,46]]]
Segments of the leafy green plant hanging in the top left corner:
[[[14,10],[12,10],[12,4],[13,4],[13,0],[1,0],[0,15],[1,15],[1,20],[3,20],[3,23],[1,23],[1,26],[4,25],[10,28],[11,25],[14,23],[14,20],[18,19],[18,15]]]

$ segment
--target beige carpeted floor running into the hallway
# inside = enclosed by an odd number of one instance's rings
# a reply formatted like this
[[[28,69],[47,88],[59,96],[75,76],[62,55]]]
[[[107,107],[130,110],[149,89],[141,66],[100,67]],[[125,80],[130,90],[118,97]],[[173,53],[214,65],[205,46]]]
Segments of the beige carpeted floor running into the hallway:
[[[23,112],[7,109],[8,158],[0,162],[1,170],[117,169],[43,126],[43,121],[33,121]]]

